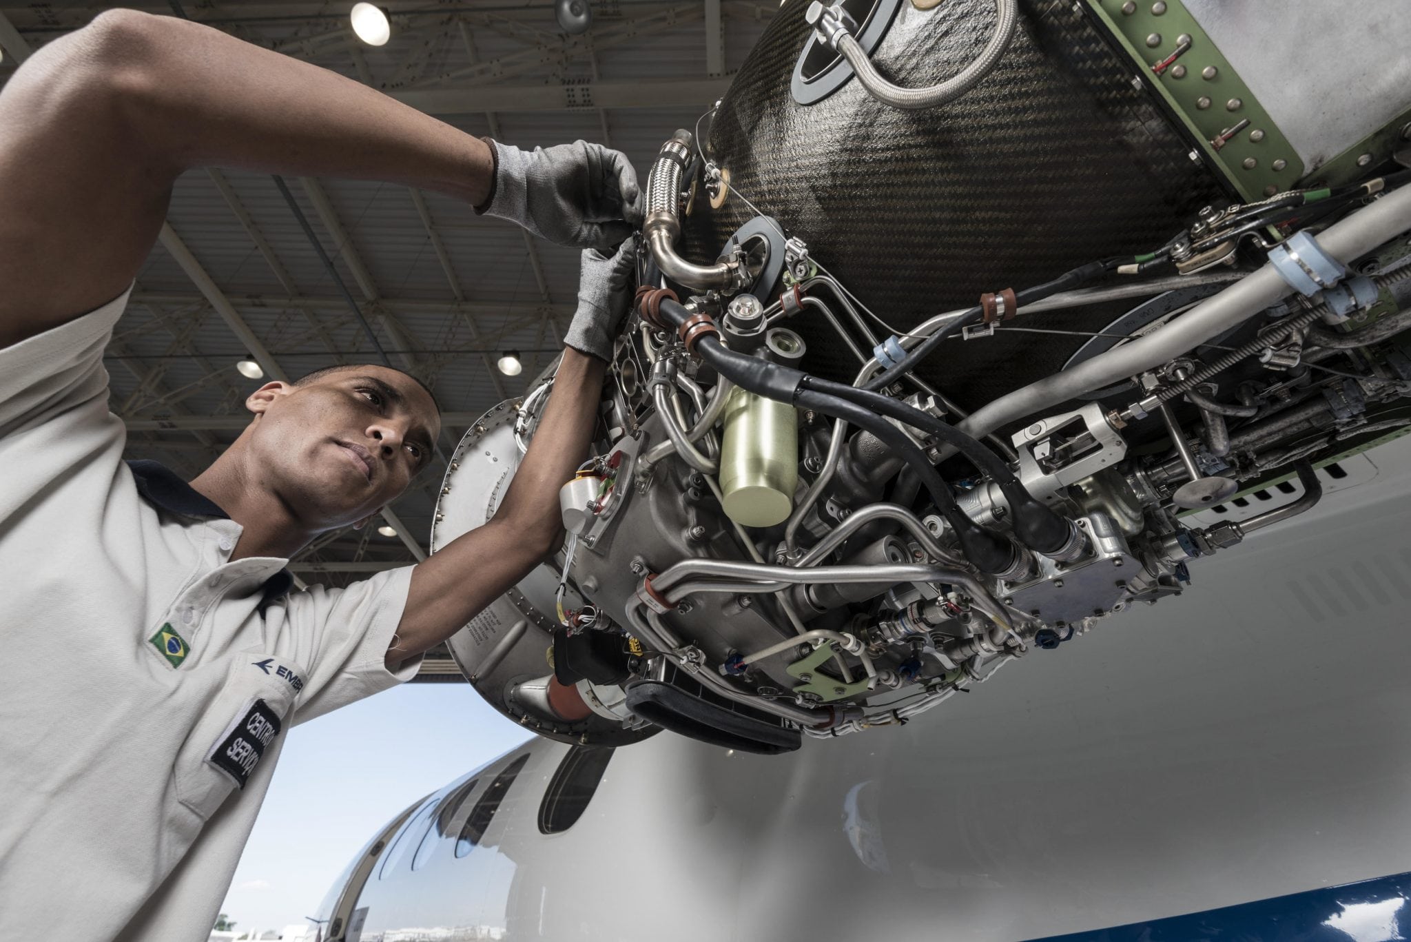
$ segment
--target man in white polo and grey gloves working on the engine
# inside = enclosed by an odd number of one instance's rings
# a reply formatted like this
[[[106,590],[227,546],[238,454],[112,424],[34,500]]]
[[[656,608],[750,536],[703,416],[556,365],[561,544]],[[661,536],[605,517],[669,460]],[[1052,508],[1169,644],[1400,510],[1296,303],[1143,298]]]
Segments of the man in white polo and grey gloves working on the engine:
[[[435,189],[586,249],[553,394],[494,520],[416,566],[289,592],[432,456],[413,377],[267,383],[185,482],[121,459],[103,349],[193,167]],[[521,151],[333,72],[110,11],[0,93],[0,939],[206,939],[291,723],[416,672],[559,537],[641,222],[617,151]],[[611,251],[614,256],[594,250]]]

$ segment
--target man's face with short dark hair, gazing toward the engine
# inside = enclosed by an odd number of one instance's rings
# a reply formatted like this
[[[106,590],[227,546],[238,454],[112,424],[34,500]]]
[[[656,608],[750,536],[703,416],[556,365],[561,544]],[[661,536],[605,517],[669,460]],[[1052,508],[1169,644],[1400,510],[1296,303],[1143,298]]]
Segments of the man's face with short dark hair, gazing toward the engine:
[[[277,494],[310,530],[343,527],[396,499],[430,462],[436,404],[416,380],[353,366],[250,397],[248,484]]]

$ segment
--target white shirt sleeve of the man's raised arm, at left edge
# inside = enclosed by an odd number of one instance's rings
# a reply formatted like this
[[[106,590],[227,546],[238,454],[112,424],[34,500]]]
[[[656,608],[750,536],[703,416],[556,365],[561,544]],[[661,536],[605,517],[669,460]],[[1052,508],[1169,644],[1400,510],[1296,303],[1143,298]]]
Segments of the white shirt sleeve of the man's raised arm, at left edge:
[[[127,432],[107,408],[103,350],[131,290],[102,308],[0,350],[0,521],[55,482],[110,480]],[[99,472],[103,472],[102,475]]]

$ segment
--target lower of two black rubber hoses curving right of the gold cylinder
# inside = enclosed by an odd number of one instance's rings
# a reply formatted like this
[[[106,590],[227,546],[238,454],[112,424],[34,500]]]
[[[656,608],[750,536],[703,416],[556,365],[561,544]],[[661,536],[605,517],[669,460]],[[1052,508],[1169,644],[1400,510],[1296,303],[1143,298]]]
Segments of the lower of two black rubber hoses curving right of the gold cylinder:
[[[697,346],[703,354],[706,354],[710,347],[724,349],[714,338],[703,339]],[[711,362],[708,354],[703,356],[703,359],[708,363]],[[721,369],[720,364],[711,364],[715,366],[721,376],[735,381],[729,377],[725,369]],[[876,435],[882,442],[900,455],[906,460],[907,466],[916,472],[916,476],[921,479],[921,486],[926,487],[927,493],[931,496],[937,511],[945,517],[945,521],[955,531],[955,538],[959,542],[965,558],[969,559],[976,569],[986,573],[1000,573],[1013,569],[1017,562],[1015,544],[993,531],[985,530],[959,508],[959,504],[955,503],[955,494],[951,491],[950,484],[945,483],[945,479],[941,477],[940,472],[937,472],[935,467],[931,466],[931,462],[927,460],[926,452],[917,448],[916,442],[907,438],[906,432],[856,403],[848,403],[847,400],[840,400],[832,395],[827,395],[825,393],[800,388],[794,398],[794,404],[800,408],[821,412],[823,415],[841,418],[849,425],[855,425],[856,428]]]

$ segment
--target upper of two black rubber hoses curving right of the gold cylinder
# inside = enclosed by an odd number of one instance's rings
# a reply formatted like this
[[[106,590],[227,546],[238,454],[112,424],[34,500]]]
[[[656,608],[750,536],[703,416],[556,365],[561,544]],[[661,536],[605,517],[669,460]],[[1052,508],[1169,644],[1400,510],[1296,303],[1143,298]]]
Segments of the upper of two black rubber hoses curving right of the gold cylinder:
[[[958,452],[965,455],[965,458],[974,462],[975,467],[978,467],[981,473],[988,475],[996,484],[999,484],[999,490],[1005,494],[1005,500],[1009,503],[1009,511],[1013,515],[1015,535],[1019,537],[1019,541],[1030,549],[1041,554],[1055,554],[1067,547],[1072,539],[1071,523],[1047,504],[1034,500],[1033,494],[1030,494],[1029,490],[1019,483],[1019,479],[1015,477],[1015,472],[1003,462],[1003,459],[999,458],[999,455],[954,425],[943,422],[934,415],[928,415],[927,412],[889,395],[859,390],[855,386],[821,380],[817,376],[806,374],[803,377],[803,387],[825,393],[828,395],[835,395],[841,400],[848,400],[849,403],[856,403],[858,405],[882,415],[890,415],[900,422],[906,422],[912,428],[935,435],[940,441],[954,446]]]

